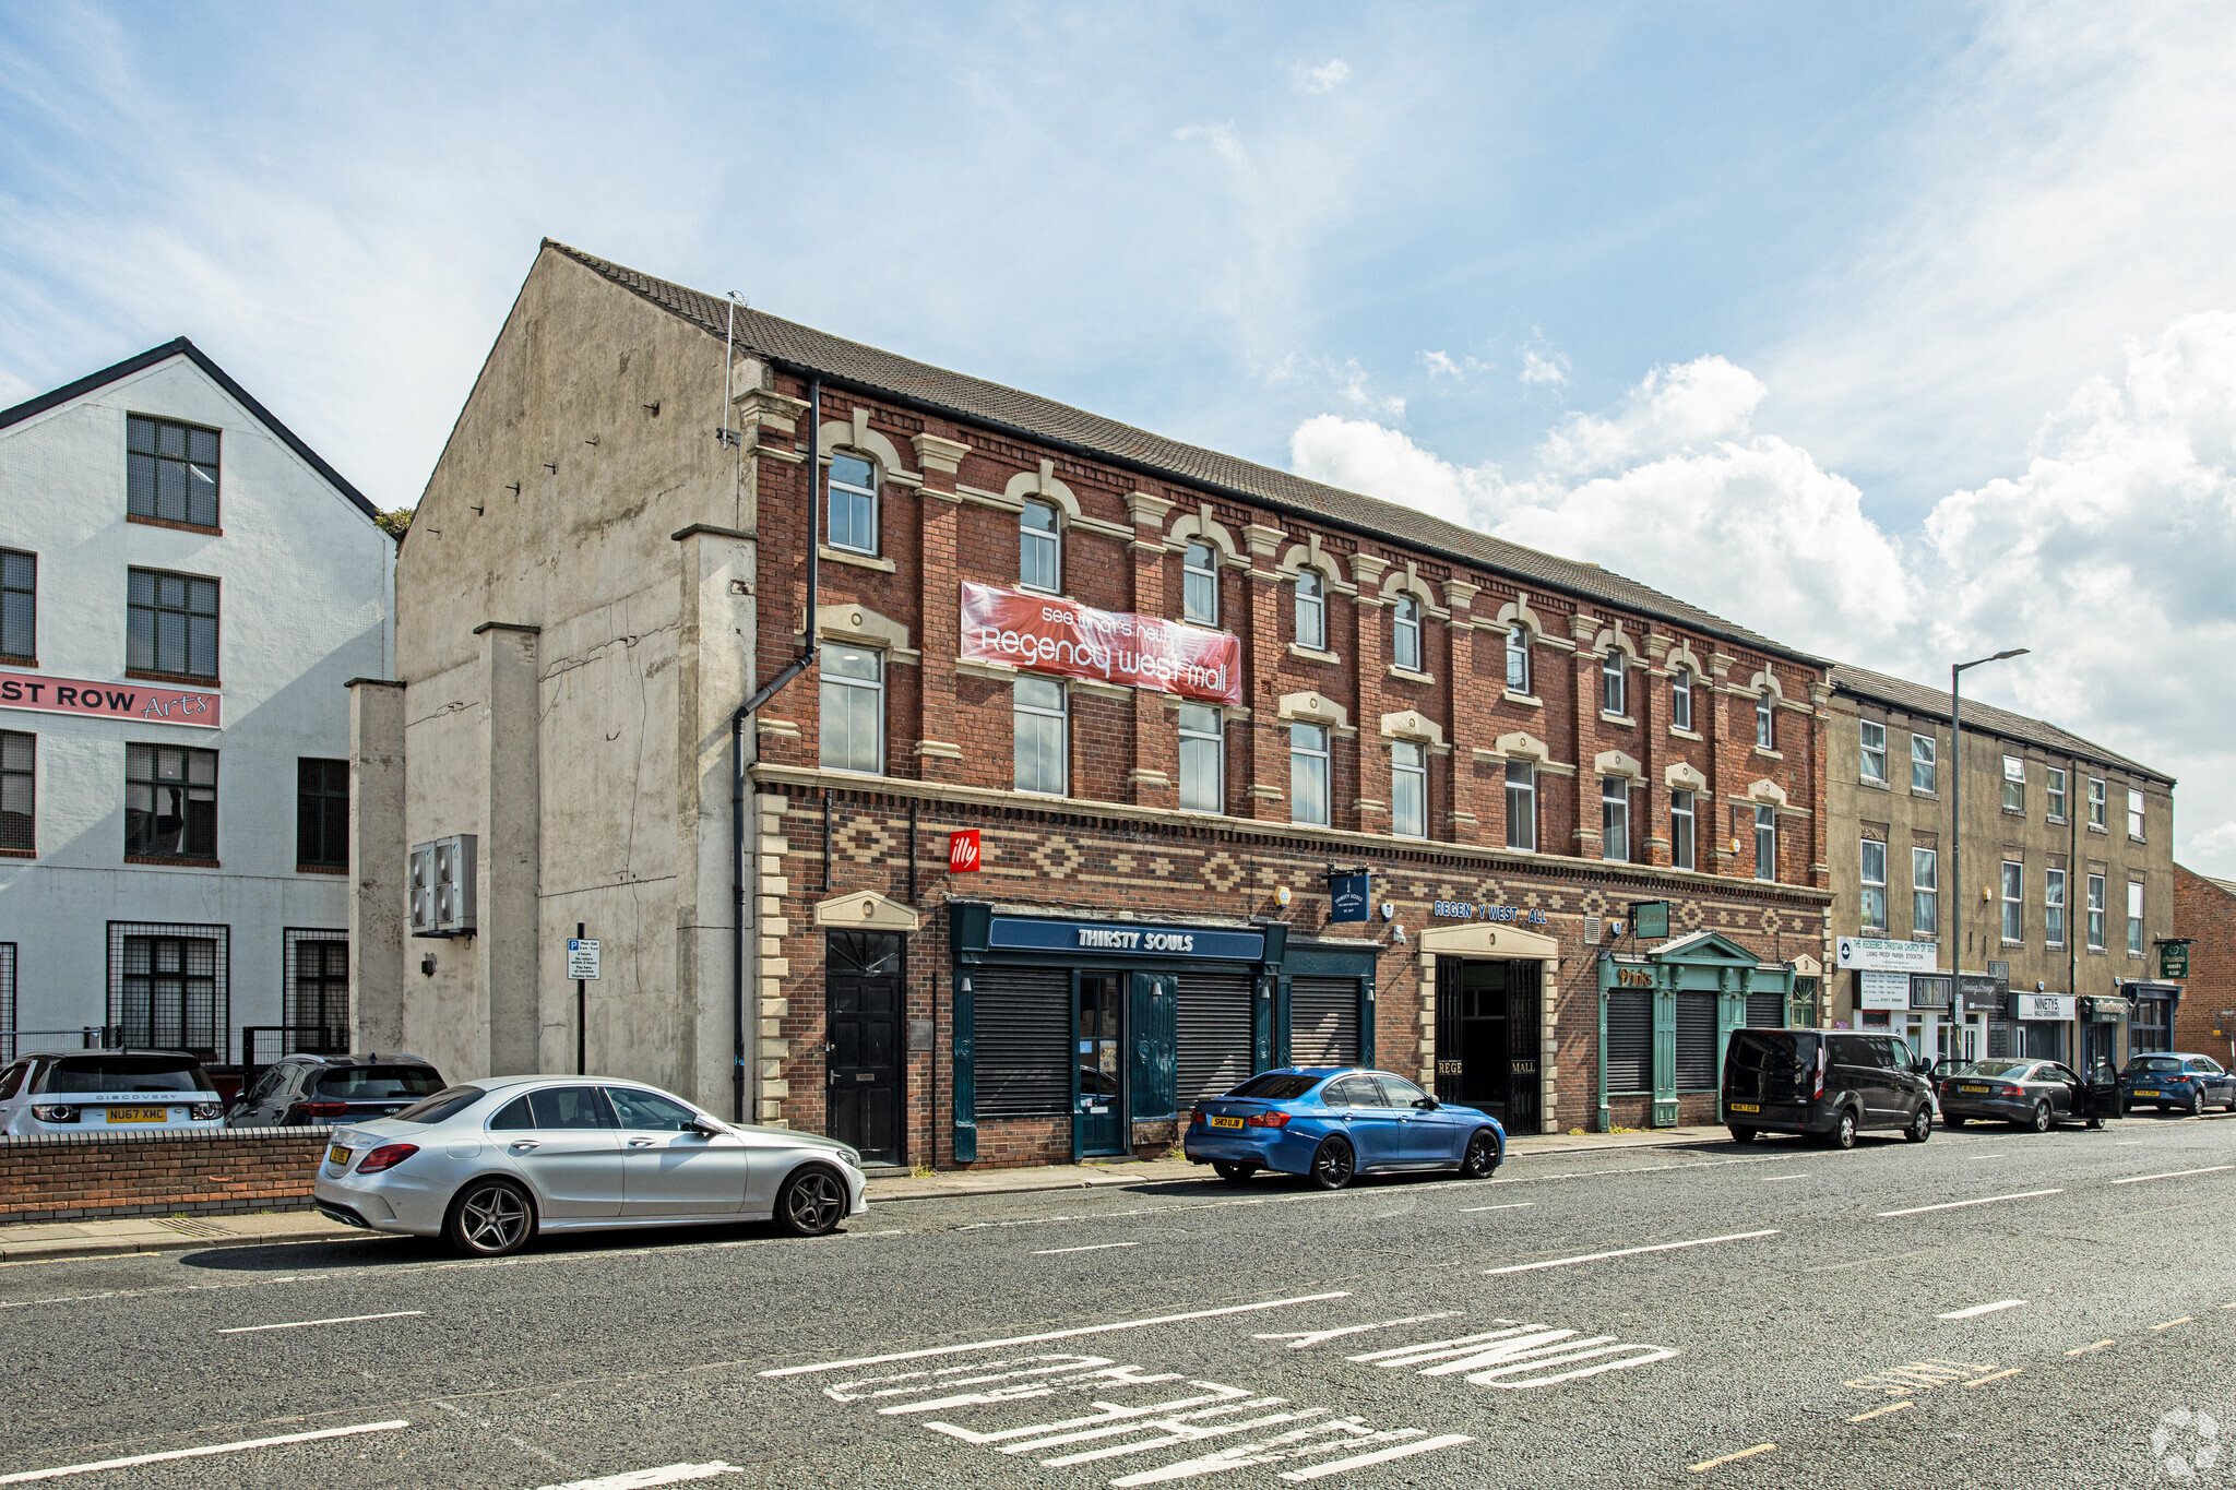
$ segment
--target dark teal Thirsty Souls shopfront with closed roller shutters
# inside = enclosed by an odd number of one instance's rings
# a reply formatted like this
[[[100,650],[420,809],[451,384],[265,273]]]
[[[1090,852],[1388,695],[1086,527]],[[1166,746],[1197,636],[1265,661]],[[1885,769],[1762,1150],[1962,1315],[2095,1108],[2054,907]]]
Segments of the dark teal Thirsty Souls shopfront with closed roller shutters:
[[[1160,1150],[1254,1072],[1375,1059],[1373,943],[950,900],[948,949],[961,1164]]]

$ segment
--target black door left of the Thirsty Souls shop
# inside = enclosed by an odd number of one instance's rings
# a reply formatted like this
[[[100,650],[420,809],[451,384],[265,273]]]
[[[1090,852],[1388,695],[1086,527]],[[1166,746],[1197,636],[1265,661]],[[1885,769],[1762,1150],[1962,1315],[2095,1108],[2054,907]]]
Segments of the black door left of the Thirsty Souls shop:
[[[823,958],[825,1128],[870,1164],[901,1162],[901,938],[832,932]]]

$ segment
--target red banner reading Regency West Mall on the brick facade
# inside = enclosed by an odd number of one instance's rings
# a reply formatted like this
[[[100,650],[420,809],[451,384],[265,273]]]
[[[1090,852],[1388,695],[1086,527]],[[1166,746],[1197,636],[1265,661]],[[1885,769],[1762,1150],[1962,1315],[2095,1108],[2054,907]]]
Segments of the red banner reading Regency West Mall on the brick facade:
[[[968,581],[961,655],[1207,704],[1243,701],[1243,643],[1228,632]]]

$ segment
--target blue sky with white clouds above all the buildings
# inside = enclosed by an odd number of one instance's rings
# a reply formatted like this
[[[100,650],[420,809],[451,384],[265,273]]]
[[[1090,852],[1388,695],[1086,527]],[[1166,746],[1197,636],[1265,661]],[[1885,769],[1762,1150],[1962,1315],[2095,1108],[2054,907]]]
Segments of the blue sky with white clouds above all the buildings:
[[[0,4],[0,404],[409,507],[541,237],[2180,777],[2236,873],[2236,7]]]

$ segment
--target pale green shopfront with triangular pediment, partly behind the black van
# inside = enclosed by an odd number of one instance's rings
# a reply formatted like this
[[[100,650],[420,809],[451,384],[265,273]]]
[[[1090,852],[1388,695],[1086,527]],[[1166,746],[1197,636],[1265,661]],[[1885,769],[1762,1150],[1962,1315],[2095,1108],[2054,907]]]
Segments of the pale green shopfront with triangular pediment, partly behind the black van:
[[[1599,958],[1599,1133],[1722,1121],[1733,1030],[1816,1023],[1813,978],[1715,932]]]

